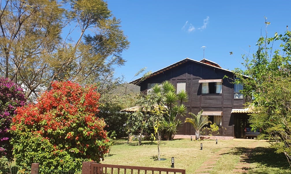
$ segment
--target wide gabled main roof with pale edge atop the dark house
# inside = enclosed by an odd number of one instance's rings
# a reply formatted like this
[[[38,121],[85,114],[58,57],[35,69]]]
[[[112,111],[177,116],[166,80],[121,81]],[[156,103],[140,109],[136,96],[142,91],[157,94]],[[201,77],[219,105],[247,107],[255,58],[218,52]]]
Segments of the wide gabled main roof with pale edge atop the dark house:
[[[149,76],[145,77],[143,80],[148,79],[148,78],[150,78],[150,77],[153,77],[153,76],[155,76],[155,75],[158,75],[158,74],[160,74],[160,73],[163,73],[164,71],[167,71],[167,70],[169,70],[169,69],[172,69],[172,68],[174,68],[174,67],[176,67],[176,66],[179,66],[179,65],[181,65],[181,64],[184,64],[184,63],[186,63],[186,62],[188,62],[188,61],[191,61],[191,62],[194,62],[194,63],[200,64],[200,65],[208,66],[208,67],[217,68],[217,69],[219,69],[219,70],[223,70],[223,71],[226,71],[226,72],[233,73],[233,72],[230,71],[230,70],[227,70],[227,69],[223,69],[223,68],[221,68],[217,63],[215,63],[215,62],[213,62],[213,61],[210,61],[210,60],[207,60],[207,59],[202,59],[201,61],[197,61],[197,60],[193,60],[193,59],[190,59],[190,58],[187,57],[186,59],[183,59],[183,60],[178,61],[178,62],[176,62],[176,63],[174,63],[174,64],[172,64],[172,65],[169,65],[169,66],[167,66],[167,67],[165,67],[165,68],[162,68],[162,69],[160,69],[160,70],[157,70],[157,71],[153,72],[153,73],[150,74]],[[204,62],[205,62],[205,63],[204,63]],[[133,81],[131,81],[131,82],[129,82],[129,83],[134,83],[134,84],[139,85],[138,83],[139,83],[140,81],[141,81],[141,78],[136,79],[136,80],[133,80]]]

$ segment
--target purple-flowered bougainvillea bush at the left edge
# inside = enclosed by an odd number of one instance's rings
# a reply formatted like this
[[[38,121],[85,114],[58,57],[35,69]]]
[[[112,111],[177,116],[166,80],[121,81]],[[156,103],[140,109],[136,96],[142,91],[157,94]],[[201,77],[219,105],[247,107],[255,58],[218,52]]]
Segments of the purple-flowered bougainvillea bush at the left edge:
[[[13,81],[0,77],[0,157],[12,160],[12,145],[9,143],[11,119],[18,106],[26,104],[23,89]]]

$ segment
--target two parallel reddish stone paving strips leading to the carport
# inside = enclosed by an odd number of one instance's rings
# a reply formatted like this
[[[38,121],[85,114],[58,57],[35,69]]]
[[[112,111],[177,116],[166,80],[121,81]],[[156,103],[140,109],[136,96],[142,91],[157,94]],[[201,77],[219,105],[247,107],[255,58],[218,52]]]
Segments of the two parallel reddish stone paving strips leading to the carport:
[[[247,150],[240,155],[239,163],[235,166],[233,170],[234,173],[247,173],[249,169],[249,163],[245,162],[249,155],[251,155],[252,148],[257,146],[258,142],[252,142],[247,146]],[[212,168],[215,166],[216,162],[221,159],[222,155],[227,153],[230,148],[237,147],[238,142],[234,142],[229,147],[221,148],[218,152],[214,153],[207,161],[203,162],[202,166],[195,171],[196,174],[210,174]]]

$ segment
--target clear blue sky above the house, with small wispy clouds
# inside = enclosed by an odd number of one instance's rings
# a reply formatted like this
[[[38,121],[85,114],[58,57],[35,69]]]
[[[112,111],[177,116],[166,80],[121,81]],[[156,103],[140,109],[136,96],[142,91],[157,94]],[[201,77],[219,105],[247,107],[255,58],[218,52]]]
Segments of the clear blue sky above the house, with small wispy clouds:
[[[256,51],[256,41],[291,28],[291,1],[137,1],[108,0],[131,42],[125,66],[116,75],[133,80],[141,68],[155,72],[186,57],[205,58],[222,68],[241,68],[242,54]],[[250,46],[250,47],[249,47]],[[229,52],[233,52],[230,55]]]

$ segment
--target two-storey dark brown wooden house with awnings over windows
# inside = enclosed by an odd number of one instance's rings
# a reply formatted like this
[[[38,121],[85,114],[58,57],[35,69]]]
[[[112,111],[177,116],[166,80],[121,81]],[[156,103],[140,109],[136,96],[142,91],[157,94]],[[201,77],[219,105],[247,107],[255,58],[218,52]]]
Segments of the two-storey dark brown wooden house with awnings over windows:
[[[230,78],[224,78],[228,76]],[[143,81],[136,79],[140,91],[147,93],[156,83],[171,81],[177,90],[184,89],[189,95],[189,102],[185,103],[189,112],[197,114],[203,109],[203,115],[219,125],[225,127],[224,136],[244,137],[244,126],[248,122],[248,109],[244,109],[245,97],[239,93],[243,87],[233,84],[233,72],[221,68],[217,63],[207,59],[196,61],[183,59],[166,68],[158,70]],[[141,82],[140,82],[141,81]],[[187,115],[189,116],[189,115]],[[184,121],[184,118],[181,118]],[[195,135],[194,128],[184,123],[178,128],[178,135]]]

